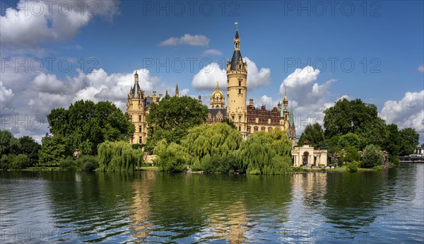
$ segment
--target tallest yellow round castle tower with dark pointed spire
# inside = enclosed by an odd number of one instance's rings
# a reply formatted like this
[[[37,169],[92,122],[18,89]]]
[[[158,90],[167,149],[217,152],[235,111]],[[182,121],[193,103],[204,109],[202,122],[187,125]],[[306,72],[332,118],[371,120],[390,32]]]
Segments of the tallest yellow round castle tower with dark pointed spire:
[[[242,132],[243,138],[246,138],[247,63],[243,62],[242,54],[240,53],[240,37],[237,30],[237,23],[235,24],[234,52],[231,61],[227,62],[227,117]]]

